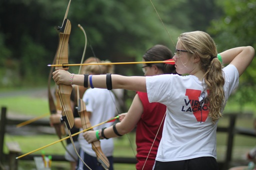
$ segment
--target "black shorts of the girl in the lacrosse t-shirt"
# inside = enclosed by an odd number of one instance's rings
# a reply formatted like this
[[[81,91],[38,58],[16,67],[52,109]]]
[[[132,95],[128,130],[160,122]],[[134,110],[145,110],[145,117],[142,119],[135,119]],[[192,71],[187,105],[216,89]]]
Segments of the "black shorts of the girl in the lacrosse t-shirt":
[[[213,157],[199,157],[172,162],[155,161],[153,170],[218,170],[218,164]]]

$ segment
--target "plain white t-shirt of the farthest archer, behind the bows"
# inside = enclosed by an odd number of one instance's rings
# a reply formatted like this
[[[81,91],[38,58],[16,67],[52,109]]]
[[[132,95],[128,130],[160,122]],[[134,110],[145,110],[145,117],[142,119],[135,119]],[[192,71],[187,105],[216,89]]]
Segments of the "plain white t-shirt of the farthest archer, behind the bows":
[[[107,89],[89,88],[85,91],[82,100],[85,102],[86,111],[91,112],[91,126],[97,125],[115,116],[115,98],[113,93]],[[93,130],[100,130],[112,124],[113,122],[105,123],[93,128]],[[78,136],[81,149],[88,155],[96,157],[96,154],[91,149],[91,144],[88,144],[82,135],[83,133],[80,133]],[[106,157],[112,156],[113,139],[100,140],[100,147]]]

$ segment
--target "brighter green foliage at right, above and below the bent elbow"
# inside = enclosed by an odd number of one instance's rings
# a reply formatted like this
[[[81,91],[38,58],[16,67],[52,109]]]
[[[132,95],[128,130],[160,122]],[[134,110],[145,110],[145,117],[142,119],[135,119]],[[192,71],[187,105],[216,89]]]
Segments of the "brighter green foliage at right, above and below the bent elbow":
[[[219,8],[223,10],[220,19],[212,20],[209,33],[214,37],[218,51],[237,47],[253,46],[256,48],[256,1],[255,0],[218,0]],[[245,56],[246,57],[246,56]],[[230,100],[244,109],[247,103],[255,103],[256,61],[240,77],[240,85]]]

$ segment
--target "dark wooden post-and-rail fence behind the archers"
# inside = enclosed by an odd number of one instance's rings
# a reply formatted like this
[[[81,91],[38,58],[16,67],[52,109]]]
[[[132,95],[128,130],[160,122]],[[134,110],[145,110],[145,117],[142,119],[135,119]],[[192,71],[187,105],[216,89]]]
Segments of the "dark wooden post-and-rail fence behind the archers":
[[[6,144],[9,153],[3,153],[4,146],[4,135],[6,133],[6,127],[10,125],[17,125],[26,120],[21,119],[7,119],[6,117],[6,108],[1,108],[1,120],[0,120],[0,168],[4,170],[3,163],[7,163],[9,165],[8,170],[17,170],[18,161],[15,160],[15,157],[18,155],[22,155],[21,150],[19,150],[16,143],[8,143]],[[250,137],[256,137],[255,131],[252,129],[245,128],[237,128],[235,127],[235,121],[240,114],[225,114],[228,116],[229,124],[227,127],[218,127],[217,133],[227,133],[227,143],[226,143],[226,153],[224,161],[218,161],[219,170],[227,170],[231,163],[232,151],[233,151],[233,140],[235,135],[245,135]],[[47,126],[49,127],[49,122],[45,120],[37,120],[29,124],[29,126]],[[40,157],[40,155],[30,154],[25,157],[20,158],[19,160],[33,160],[34,157]],[[52,155],[52,161],[66,161],[63,155]],[[120,164],[136,164],[135,158],[113,158],[114,163]]]

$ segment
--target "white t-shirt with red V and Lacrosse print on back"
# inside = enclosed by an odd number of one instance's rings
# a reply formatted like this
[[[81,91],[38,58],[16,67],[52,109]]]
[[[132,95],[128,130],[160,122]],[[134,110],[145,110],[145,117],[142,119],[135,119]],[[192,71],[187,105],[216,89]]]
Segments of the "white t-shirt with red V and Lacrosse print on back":
[[[223,68],[225,102],[238,86],[235,66]],[[202,84],[204,86],[202,86]],[[149,102],[167,106],[156,161],[181,161],[198,157],[216,158],[216,128],[208,117],[205,83],[193,75],[159,75],[146,77]],[[200,101],[203,102],[200,104]],[[202,109],[201,109],[202,108]],[[223,111],[222,108],[221,112]]]

